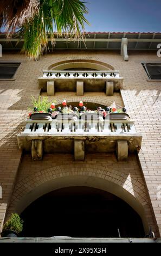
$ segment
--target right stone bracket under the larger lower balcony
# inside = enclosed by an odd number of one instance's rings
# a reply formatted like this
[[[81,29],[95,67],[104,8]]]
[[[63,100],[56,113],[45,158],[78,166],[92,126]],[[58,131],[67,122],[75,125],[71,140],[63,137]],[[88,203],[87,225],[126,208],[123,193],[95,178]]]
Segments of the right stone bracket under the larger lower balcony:
[[[118,161],[127,161],[128,157],[128,144],[127,141],[117,141],[117,160]]]

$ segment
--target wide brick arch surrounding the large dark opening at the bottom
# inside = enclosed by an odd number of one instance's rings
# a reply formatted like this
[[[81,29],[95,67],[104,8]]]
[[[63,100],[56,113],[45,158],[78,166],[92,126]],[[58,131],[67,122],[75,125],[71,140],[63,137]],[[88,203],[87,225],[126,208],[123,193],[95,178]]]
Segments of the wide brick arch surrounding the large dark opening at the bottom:
[[[20,214],[43,194],[68,186],[94,187],[115,194],[136,210],[143,221],[145,232],[148,231],[146,210],[149,209],[149,204],[143,183],[131,181],[127,173],[105,171],[102,166],[95,167],[93,164],[88,164],[88,167],[83,164],[60,165],[41,170],[18,181],[12,194],[8,215],[15,211]]]

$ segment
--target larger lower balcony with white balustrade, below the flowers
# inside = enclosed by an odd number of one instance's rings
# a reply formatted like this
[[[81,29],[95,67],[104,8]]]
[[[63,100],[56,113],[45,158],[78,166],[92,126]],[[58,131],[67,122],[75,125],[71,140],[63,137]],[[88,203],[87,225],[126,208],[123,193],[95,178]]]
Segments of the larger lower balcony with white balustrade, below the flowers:
[[[42,159],[43,153],[74,154],[75,161],[83,161],[86,153],[116,152],[118,161],[127,161],[128,152],[141,147],[141,135],[126,113],[48,115],[49,120],[38,120],[33,114],[17,136],[19,148],[31,151],[33,160]]]

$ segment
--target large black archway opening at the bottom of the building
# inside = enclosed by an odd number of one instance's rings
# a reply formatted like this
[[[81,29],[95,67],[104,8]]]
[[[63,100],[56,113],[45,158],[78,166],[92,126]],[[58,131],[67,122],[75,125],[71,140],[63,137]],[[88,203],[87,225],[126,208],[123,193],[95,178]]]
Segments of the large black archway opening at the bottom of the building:
[[[21,214],[22,236],[144,237],[141,218],[130,205],[106,191],[66,187],[45,194]]]

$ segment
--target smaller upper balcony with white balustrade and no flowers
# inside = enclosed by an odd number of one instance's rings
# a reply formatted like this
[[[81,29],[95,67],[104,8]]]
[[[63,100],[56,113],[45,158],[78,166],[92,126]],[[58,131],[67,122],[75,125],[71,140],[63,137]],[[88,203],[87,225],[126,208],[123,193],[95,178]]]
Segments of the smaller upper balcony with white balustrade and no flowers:
[[[117,70],[106,71],[43,71],[38,78],[38,88],[48,95],[55,92],[76,92],[82,96],[84,92],[106,92],[112,96],[123,88],[123,77]]]

